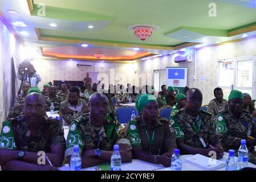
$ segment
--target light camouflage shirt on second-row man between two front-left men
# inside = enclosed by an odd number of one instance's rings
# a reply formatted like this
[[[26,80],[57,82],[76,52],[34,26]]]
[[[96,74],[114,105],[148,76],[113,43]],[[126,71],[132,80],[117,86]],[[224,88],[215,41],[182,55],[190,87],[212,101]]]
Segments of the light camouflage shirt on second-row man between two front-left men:
[[[78,107],[78,106],[81,106],[82,105],[82,110],[84,109],[84,108],[88,108],[88,102],[86,102],[86,101],[84,101],[84,100],[82,100],[82,99],[78,99],[78,105],[76,105],[76,107]],[[75,112],[74,114],[62,114],[62,111],[63,111],[63,109],[65,108],[65,107],[71,107],[72,105],[68,102],[68,100],[66,100],[66,101],[64,101],[64,102],[62,102],[61,104],[60,104],[60,109],[59,109],[59,115],[60,115],[60,117],[62,117],[62,119],[64,119],[64,121],[66,122],[66,123],[68,123],[69,125],[70,125],[70,123],[72,122],[72,121],[74,121],[75,119],[77,119],[77,118],[79,118],[81,115],[83,115],[83,111],[82,110],[80,110],[80,111],[77,111],[77,112]],[[88,111],[89,111],[89,108],[88,108]]]

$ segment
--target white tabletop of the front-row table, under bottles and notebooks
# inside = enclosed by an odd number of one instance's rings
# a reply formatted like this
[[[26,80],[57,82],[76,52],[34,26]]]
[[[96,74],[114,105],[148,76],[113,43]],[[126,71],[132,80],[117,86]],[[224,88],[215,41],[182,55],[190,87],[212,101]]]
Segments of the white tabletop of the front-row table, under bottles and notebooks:
[[[185,162],[186,158],[190,158],[193,155],[182,155],[182,171],[204,171],[204,169],[201,169],[197,166],[193,166],[193,164],[190,164],[188,162]],[[229,154],[227,152],[224,153],[224,156],[222,159],[219,159],[223,162],[226,161]],[[235,157],[237,159],[237,157]],[[249,163],[248,167],[256,168],[256,165]],[[64,166],[59,168],[61,171],[70,171],[70,168],[68,164],[65,164]],[[133,159],[131,163],[122,163],[121,166],[122,171],[171,171],[170,167],[164,167],[160,164],[153,164],[148,163],[143,160],[139,159]],[[83,168],[81,171],[96,171],[96,166]],[[225,171],[225,167],[216,169],[216,171]]]

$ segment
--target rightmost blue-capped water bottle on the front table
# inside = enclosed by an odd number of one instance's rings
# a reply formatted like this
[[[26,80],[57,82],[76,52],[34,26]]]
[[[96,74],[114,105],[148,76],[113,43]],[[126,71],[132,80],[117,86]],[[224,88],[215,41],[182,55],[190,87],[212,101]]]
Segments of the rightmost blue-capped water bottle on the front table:
[[[238,169],[248,166],[248,149],[246,147],[246,140],[241,140],[241,146],[238,150]]]

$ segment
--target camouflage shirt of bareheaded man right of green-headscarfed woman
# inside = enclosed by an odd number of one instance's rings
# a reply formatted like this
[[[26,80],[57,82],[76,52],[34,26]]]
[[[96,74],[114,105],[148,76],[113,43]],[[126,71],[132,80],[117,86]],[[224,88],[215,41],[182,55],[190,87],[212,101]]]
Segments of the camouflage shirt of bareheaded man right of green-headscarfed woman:
[[[198,129],[200,121],[200,130],[197,132],[196,129]],[[212,140],[218,138],[213,125],[212,114],[207,111],[200,110],[195,118],[190,116],[186,112],[186,108],[183,107],[170,122],[175,137],[184,139],[184,143],[190,147],[205,148],[199,139],[200,137],[204,140],[206,146],[209,146]]]

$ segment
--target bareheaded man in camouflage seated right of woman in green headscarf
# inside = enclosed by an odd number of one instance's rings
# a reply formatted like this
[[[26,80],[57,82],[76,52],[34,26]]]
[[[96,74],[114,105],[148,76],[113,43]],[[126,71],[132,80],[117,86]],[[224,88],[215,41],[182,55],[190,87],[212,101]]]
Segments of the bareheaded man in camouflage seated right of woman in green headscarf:
[[[182,154],[211,156],[211,151],[214,151],[217,159],[222,158],[224,151],[215,132],[212,114],[200,110],[201,105],[201,91],[196,88],[188,90],[186,105],[170,121],[172,123],[170,129],[176,136]]]

